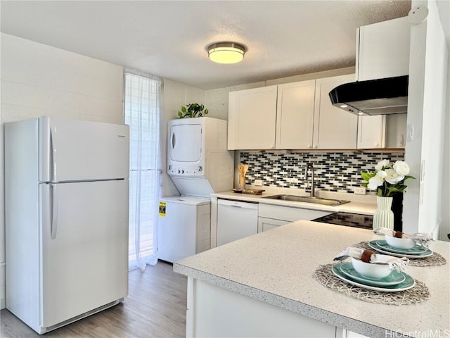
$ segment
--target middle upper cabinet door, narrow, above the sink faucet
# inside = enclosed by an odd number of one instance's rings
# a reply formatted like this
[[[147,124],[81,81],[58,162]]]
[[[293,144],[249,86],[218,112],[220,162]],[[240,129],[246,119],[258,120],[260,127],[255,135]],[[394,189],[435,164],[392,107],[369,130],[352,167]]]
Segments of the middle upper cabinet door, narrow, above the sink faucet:
[[[315,80],[278,85],[276,149],[312,147]]]

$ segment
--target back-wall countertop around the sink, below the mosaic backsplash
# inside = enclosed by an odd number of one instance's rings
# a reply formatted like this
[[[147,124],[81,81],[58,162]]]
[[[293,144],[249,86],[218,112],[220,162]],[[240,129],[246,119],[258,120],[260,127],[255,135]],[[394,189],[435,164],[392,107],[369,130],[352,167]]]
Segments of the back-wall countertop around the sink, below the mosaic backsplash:
[[[248,202],[256,202],[260,204],[273,204],[278,206],[290,206],[293,208],[307,208],[313,210],[323,210],[323,211],[335,211],[335,212],[344,212],[344,213],[359,213],[361,215],[373,215],[375,212],[377,205],[376,203],[368,203],[370,199],[366,199],[366,201],[350,201],[350,203],[341,204],[340,206],[324,206],[322,204],[314,204],[314,203],[305,203],[305,202],[296,202],[296,201],[281,201],[278,199],[266,199],[264,197],[271,196],[276,193],[272,192],[264,192],[262,195],[252,195],[252,194],[238,194],[236,192],[218,192],[211,194],[212,197],[217,197],[220,199],[234,199],[237,201],[248,201]],[[344,194],[345,195],[345,194]],[[346,199],[346,196],[342,196],[342,194],[338,196],[320,196],[323,198],[330,199]]]

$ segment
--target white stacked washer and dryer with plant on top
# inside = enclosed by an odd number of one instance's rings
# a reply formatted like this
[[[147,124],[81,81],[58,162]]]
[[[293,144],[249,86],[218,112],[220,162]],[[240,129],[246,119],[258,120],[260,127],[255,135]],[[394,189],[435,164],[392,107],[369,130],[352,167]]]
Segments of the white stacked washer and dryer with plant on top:
[[[227,121],[181,118],[167,123],[167,173],[180,196],[160,200],[158,258],[174,263],[211,247],[212,192],[233,188]]]

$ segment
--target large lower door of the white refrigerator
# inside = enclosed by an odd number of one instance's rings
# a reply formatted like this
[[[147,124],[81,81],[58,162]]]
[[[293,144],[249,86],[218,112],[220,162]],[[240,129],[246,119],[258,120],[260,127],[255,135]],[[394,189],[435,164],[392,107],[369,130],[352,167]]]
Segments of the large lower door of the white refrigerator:
[[[40,187],[41,325],[49,327],[127,296],[128,180]]]

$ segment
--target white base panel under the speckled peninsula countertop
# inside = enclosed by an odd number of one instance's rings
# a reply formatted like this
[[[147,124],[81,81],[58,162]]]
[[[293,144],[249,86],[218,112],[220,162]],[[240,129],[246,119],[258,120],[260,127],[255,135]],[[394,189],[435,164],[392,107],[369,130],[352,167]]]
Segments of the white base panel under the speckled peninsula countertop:
[[[336,337],[337,327],[188,277],[186,337]],[[340,335],[339,335],[340,336]]]

